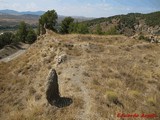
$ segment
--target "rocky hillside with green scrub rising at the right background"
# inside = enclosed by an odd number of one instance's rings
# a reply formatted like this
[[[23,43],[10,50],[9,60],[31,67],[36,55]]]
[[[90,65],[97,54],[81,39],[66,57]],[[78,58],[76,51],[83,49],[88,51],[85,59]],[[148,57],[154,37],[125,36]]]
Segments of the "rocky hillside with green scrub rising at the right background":
[[[160,34],[160,11],[149,14],[129,13],[108,18],[97,18],[85,21],[91,32],[100,24],[102,31],[115,29],[118,34],[132,36],[134,34]]]

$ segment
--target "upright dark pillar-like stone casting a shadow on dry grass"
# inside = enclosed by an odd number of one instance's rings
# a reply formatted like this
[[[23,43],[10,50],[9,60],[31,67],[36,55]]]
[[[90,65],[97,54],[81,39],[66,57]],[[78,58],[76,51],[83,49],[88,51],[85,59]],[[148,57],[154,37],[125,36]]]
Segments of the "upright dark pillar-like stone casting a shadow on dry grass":
[[[48,102],[53,105],[57,100],[60,99],[58,76],[55,69],[51,69],[47,78],[47,82],[46,98]]]

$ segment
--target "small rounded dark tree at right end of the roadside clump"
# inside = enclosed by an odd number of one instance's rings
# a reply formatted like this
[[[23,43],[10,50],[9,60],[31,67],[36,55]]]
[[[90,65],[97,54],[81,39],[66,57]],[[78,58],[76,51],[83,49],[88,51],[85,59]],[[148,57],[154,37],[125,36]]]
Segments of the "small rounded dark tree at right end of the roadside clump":
[[[26,42],[29,44],[32,44],[37,39],[37,35],[33,29],[30,29],[28,31]]]

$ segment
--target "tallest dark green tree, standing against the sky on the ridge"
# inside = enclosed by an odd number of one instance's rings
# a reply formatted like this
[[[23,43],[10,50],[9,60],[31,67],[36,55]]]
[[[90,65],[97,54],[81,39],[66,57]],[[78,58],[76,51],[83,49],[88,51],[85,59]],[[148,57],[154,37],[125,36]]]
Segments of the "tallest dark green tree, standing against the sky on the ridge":
[[[46,13],[40,16],[39,24],[41,33],[45,33],[45,28],[56,31],[55,25],[57,23],[57,18],[58,15],[55,10],[48,10]]]

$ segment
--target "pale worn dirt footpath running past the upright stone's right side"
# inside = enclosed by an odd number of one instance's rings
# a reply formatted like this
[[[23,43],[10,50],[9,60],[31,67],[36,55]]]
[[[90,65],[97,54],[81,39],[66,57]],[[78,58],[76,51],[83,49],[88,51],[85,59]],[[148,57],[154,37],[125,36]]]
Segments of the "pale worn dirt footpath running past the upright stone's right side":
[[[83,58],[82,58],[83,59]],[[73,85],[75,88],[78,88],[76,91],[74,91],[75,97],[81,98],[83,100],[83,106],[76,115],[76,118],[78,120],[90,120],[93,118],[94,111],[92,110],[93,106],[93,100],[90,96],[91,90],[87,88],[84,75],[85,72],[85,66],[83,66],[83,63],[85,62],[85,59],[79,61],[79,59],[71,60],[70,62],[67,62],[63,64],[63,70],[61,70],[63,76],[62,78],[71,78],[70,84]],[[83,61],[83,62],[82,62]],[[74,67],[71,67],[74,66]],[[76,67],[75,67],[76,66]],[[58,69],[59,66],[57,66]],[[65,68],[65,69],[64,69]],[[72,76],[72,73],[75,74]],[[61,79],[61,78],[60,78]],[[62,81],[60,81],[62,82]],[[60,84],[64,84],[63,82]]]

